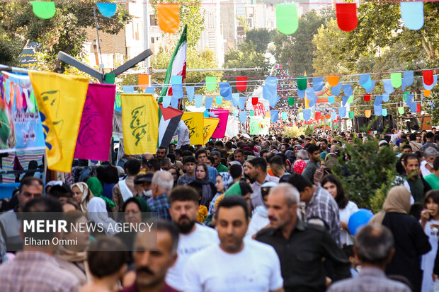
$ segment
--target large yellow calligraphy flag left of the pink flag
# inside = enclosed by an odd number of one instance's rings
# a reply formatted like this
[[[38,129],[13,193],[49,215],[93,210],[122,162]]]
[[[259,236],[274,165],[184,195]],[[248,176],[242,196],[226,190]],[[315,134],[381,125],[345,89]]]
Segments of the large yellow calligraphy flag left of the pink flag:
[[[89,78],[35,71],[29,77],[45,134],[47,168],[70,173]]]

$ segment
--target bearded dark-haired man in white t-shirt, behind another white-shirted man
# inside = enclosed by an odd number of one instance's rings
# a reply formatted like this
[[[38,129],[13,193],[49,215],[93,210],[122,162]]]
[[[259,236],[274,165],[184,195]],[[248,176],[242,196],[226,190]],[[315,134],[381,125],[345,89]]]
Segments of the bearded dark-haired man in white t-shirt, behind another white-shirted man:
[[[190,255],[220,243],[217,231],[197,224],[199,194],[193,187],[181,185],[169,194],[169,214],[178,227],[177,261],[168,269],[166,283],[180,289],[183,286],[183,269]]]

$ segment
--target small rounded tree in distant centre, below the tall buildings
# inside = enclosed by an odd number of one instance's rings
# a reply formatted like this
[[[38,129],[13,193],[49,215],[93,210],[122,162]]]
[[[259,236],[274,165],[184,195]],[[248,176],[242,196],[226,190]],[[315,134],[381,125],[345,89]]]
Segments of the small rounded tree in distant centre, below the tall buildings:
[[[266,76],[270,62],[261,52],[256,51],[253,42],[243,42],[241,49],[230,49],[224,55],[224,68],[262,68],[258,71],[225,71],[224,76]]]

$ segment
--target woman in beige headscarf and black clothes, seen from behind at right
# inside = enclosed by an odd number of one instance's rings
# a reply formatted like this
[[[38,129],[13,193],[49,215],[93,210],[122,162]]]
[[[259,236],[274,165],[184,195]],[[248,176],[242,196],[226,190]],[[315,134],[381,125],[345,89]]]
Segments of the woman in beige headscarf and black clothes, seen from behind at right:
[[[383,211],[370,220],[370,224],[382,224],[392,231],[395,253],[387,264],[387,275],[406,277],[414,287],[421,291],[422,270],[419,257],[431,250],[428,236],[421,224],[409,216],[411,193],[406,187],[392,187],[387,195]]]

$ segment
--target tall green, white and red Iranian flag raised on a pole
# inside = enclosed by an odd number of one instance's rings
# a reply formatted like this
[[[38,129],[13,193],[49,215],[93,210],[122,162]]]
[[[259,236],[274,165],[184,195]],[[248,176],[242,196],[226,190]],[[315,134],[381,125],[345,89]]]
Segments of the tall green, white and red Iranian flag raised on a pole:
[[[180,40],[178,41],[176,49],[173,51],[171,61],[169,61],[168,69],[166,70],[166,76],[163,83],[163,88],[160,92],[159,103],[161,103],[161,97],[172,95],[171,88],[171,76],[183,76],[183,81],[186,78],[186,51],[188,49],[188,37],[186,30],[188,25],[184,26],[183,33],[181,33]]]

